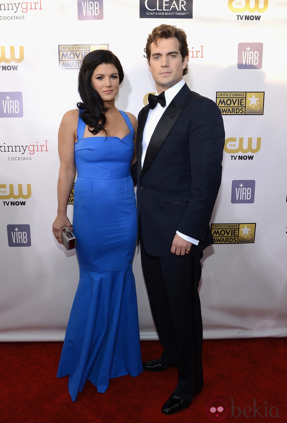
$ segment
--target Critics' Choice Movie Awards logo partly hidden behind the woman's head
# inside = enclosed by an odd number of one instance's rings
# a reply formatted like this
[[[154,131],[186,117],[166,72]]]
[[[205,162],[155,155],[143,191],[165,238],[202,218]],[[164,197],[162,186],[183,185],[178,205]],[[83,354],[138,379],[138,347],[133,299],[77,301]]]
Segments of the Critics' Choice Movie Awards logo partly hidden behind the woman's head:
[[[80,69],[85,55],[98,49],[108,50],[109,44],[61,44],[58,47],[60,69]]]

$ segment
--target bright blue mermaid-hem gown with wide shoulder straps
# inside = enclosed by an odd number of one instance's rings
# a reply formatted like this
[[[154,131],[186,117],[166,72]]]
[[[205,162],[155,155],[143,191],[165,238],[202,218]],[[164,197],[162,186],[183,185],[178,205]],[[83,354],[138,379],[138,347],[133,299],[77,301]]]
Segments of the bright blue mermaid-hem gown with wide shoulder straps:
[[[79,285],[66,329],[57,377],[69,375],[76,401],[87,379],[104,393],[109,379],[142,372],[132,259],[137,239],[131,178],[134,129],[129,134],[84,138],[79,118],[74,154],[73,228]]]

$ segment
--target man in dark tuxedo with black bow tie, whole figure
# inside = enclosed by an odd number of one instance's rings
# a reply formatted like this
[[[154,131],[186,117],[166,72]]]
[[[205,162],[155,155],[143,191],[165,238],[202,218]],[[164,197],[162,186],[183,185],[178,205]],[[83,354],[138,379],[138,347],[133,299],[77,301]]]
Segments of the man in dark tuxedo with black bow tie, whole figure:
[[[224,126],[216,104],[189,90],[183,30],[160,25],[148,36],[148,68],[158,98],[139,113],[137,207],[142,269],[164,347],[146,371],[178,367],[164,414],[186,409],[203,387],[198,285],[202,251],[221,183]],[[159,101],[160,103],[158,103]]]

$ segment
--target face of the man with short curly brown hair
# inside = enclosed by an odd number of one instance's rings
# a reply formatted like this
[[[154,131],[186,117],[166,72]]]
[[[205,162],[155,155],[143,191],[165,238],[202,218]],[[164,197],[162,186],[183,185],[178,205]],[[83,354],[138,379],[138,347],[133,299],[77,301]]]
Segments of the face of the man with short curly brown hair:
[[[150,45],[148,69],[156,82],[160,94],[183,79],[183,69],[187,66],[187,56],[182,61],[180,44],[177,38],[159,38],[157,44]]]

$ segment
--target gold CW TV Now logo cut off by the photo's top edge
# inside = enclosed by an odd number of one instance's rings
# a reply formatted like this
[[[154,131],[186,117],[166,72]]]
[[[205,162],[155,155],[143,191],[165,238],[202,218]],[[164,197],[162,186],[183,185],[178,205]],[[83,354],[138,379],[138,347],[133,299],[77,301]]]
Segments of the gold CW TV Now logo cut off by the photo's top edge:
[[[251,13],[236,15],[238,21],[260,21],[261,15],[255,15],[254,12],[265,12],[268,8],[268,0],[228,0],[228,7],[234,13]]]

